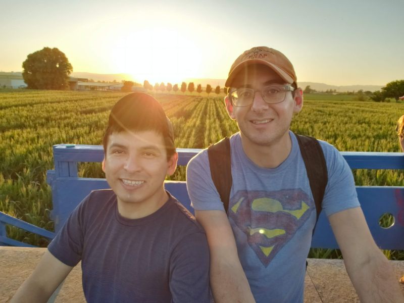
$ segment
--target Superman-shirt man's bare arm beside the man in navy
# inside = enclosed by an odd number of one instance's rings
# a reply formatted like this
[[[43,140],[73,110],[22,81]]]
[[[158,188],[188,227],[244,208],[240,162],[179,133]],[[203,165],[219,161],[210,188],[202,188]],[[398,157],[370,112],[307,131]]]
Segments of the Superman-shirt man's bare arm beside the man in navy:
[[[237,255],[229,220],[223,211],[197,211],[211,256],[210,278],[215,303],[255,302]]]

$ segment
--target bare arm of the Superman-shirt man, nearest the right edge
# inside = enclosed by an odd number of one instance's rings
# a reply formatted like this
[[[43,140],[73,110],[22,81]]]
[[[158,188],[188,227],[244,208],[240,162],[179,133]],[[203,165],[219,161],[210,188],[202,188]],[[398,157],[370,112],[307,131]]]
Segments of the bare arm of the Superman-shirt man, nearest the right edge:
[[[362,209],[347,209],[328,219],[361,302],[404,302],[393,269],[376,246]]]

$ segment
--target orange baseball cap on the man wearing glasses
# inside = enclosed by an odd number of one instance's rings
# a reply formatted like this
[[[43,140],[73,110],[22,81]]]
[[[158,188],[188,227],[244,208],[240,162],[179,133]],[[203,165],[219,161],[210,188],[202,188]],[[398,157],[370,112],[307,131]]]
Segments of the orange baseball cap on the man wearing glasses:
[[[296,83],[297,81],[293,65],[285,55],[267,46],[256,46],[242,53],[234,61],[225,86],[230,87],[238,72],[250,64],[263,64],[270,67],[287,83]]]

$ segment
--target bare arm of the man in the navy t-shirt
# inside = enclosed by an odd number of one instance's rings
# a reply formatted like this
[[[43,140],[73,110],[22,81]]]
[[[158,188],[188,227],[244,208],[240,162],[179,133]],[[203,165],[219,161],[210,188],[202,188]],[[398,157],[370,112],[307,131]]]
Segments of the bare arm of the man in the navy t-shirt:
[[[10,303],[46,302],[72,269],[46,249],[35,270],[20,286]]]

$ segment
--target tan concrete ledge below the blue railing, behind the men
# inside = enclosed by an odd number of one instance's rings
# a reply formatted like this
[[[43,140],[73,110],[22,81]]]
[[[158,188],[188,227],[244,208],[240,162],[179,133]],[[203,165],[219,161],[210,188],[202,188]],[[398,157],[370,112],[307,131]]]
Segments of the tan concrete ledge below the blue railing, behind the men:
[[[0,302],[8,302],[34,270],[46,248],[0,246]],[[305,279],[305,302],[359,302],[342,260],[309,259]],[[390,261],[396,281],[404,275],[404,261]],[[404,293],[404,284],[401,284]],[[81,265],[76,266],[49,302],[85,302]]]

